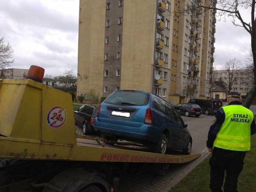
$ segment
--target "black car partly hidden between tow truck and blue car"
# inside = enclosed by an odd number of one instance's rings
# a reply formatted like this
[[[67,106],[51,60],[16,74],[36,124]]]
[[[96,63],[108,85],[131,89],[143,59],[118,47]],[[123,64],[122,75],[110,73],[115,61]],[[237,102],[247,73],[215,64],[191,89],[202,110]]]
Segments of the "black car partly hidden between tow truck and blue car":
[[[85,135],[90,134],[91,132],[95,132],[93,123],[94,116],[97,115],[98,108],[92,105],[82,105],[79,109],[74,111],[75,123],[80,125],[83,128],[83,133]],[[93,118],[92,118],[93,117]]]

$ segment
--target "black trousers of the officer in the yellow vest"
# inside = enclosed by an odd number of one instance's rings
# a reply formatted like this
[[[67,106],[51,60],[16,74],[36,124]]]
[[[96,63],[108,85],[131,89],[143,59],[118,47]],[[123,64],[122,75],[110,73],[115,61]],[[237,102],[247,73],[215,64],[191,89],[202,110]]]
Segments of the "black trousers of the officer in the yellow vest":
[[[238,176],[243,170],[243,160],[246,151],[232,151],[214,147],[210,158],[211,181],[210,189],[212,192],[222,192],[224,173],[226,180],[224,184],[225,192],[237,191]]]

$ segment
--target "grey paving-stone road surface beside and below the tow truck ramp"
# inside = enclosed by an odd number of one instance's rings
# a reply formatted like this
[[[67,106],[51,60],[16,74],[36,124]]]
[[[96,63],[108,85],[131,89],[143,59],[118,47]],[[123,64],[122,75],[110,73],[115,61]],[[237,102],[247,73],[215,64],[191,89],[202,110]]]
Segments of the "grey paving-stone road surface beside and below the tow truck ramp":
[[[182,118],[185,123],[188,123],[188,130],[193,139],[191,153],[201,153],[201,157],[184,164],[169,164],[165,175],[157,175],[152,173],[148,168],[143,167],[136,174],[121,173],[119,175],[118,192],[170,191],[210,154],[206,149],[206,141],[208,130],[214,116],[202,114],[198,118],[185,116],[182,116]],[[76,130],[77,134],[82,134],[82,129],[78,126]]]

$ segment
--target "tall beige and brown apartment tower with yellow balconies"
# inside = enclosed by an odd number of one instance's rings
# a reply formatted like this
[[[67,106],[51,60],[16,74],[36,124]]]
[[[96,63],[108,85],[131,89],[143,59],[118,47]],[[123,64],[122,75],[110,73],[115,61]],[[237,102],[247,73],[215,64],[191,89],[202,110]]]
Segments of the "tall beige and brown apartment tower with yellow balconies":
[[[216,11],[198,5],[211,2],[80,0],[77,92],[143,90],[177,104],[193,87],[210,99]]]

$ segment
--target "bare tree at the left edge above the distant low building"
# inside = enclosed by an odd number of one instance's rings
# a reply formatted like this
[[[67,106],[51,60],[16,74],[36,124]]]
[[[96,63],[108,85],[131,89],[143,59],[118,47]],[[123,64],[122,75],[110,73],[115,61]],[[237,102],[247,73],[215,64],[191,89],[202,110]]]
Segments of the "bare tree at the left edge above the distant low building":
[[[0,39],[0,70],[11,67],[13,59],[13,48],[9,43],[5,43],[3,37]]]

